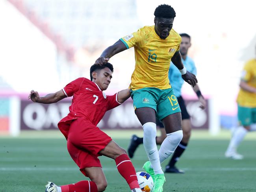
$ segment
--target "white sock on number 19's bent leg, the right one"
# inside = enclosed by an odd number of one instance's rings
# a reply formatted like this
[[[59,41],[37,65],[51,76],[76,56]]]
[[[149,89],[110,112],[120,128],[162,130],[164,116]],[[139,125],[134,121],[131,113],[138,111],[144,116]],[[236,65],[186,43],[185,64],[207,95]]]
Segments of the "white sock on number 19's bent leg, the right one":
[[[160,163],[170,157],[170,155],[173,154],[173,152],[176,150],[176,148],[180,144],[180,141],[182,140],[183,131],[179,130],[166,135],[167,137],[165,138],[165,140],[163,140],[163,143],[161,144],[160,150],[158,152]]]

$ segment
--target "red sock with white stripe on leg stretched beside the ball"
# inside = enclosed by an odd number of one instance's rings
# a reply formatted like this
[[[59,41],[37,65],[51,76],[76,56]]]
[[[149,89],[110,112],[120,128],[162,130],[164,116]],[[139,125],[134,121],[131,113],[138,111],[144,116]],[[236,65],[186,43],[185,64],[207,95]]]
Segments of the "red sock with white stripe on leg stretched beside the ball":
[[[139,188],[138,179],[136,176],[135,168],[132,164],[132,161],[126,154],[122,154],[115,159],[117,164],[117,170],[124,177],[130,189]]]

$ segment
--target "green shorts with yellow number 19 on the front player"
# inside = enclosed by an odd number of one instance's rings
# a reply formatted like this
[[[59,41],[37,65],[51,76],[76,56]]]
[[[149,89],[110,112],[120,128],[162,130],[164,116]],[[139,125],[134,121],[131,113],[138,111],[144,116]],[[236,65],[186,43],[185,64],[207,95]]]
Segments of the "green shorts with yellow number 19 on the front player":
[[[181,112],[173,88],[161,90],[147,87],[131,90],[131,93],[131,97],[134,100],[134,109],[150,107],[156,111],[156,117],[160,120],[169,114]]]

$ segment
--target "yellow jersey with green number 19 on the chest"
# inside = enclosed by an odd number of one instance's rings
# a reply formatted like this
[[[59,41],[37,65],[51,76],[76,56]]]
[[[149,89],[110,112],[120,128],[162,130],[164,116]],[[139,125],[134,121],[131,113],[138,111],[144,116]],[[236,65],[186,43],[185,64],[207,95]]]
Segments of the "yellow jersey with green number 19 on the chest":
[[[166,39],[161,39],[154,26],[145,26],[120,39],[126,48],[134,47],[135,69],[130,88],[171,88],[168,79],[171,58],[180,49],[181,37],[173,29]]]

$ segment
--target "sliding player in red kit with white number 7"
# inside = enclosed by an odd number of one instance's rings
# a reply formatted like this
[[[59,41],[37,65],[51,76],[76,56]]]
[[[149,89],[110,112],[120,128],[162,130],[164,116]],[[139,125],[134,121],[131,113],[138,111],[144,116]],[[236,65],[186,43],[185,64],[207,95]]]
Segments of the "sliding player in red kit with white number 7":
[[[80,171],[91,181],[57,186],[52,182],[46,185],[46,192],[101,192],[106,189],[107,181],[98,156],[115,159],[117,170],[124,177],[132,192],[141,192],[135,168],[126,151],[117,145],[111,137],[101,131],[97,124],[106,111],[117,107],[130,97],[130,89],[106,96],[103,90],[108,88],[113,66],[92,65],[91,80],[78,78],[56,93],[40,97],[32,90],[28,96],[33,102],[56,103],[65,97],[71,97],[70,113],[58,123],[59,130],[67,139],[70,156]]]

